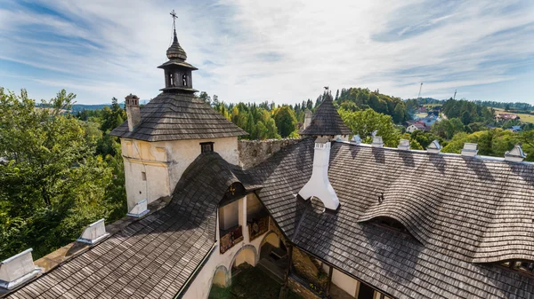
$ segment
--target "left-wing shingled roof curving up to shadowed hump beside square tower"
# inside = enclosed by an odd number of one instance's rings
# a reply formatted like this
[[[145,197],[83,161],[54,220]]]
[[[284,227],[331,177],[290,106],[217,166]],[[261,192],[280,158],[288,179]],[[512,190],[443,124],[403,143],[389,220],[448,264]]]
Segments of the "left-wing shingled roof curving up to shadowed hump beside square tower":
[[[184,172],[173,200],[8,298],[173,298],[215,240],[216,209],[240,169],[202,153]],[[245,185],[247,187],[247,185]]]

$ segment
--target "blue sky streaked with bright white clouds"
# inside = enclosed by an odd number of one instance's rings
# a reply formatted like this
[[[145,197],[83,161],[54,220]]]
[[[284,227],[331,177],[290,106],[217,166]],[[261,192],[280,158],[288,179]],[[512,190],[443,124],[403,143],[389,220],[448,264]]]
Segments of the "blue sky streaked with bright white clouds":
[[[0,0],[0,86],[109,103],[164,87],[172,10],[193,87],[300,103],[323,86],[534,104],[533,1]]]

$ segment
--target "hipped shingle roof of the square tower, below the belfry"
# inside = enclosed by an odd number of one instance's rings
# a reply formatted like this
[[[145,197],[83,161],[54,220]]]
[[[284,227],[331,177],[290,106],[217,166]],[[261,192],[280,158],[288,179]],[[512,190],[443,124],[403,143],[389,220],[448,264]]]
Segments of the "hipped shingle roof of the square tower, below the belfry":
[[[145,141],[224,138],[247,135],[199,98],[184,93],[160,93],[141,108],[141,122],[128,130],[128,123],[109,135]]]

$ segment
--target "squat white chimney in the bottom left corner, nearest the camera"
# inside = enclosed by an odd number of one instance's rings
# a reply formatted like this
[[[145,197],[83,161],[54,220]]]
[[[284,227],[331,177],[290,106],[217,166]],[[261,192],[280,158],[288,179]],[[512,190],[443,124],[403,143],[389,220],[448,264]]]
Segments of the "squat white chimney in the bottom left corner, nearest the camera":
[[[32,250],[26,249],[0,263],[0,287],[13,289],[41,272],[41,268],[33,263]]]

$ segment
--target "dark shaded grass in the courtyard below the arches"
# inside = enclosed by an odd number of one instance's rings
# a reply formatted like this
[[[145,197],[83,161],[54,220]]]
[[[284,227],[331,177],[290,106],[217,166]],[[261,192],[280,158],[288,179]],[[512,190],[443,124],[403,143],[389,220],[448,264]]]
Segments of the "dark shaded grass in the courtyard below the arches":
[[[281,286],[263,271],[248,264],[239,265],[239,274],[232,278],[231,287],[213,286],[209,299],[278,299]],[[287,299],[303,299],[289,291]]]

